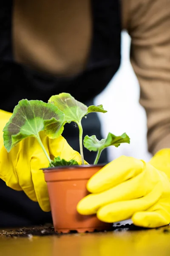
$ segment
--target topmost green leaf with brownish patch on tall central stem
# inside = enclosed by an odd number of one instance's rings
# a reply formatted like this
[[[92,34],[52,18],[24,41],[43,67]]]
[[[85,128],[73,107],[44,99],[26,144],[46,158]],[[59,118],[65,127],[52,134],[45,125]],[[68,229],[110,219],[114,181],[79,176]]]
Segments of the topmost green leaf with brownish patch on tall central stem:
[[[79,122],[83,116],[91,112],[107,112],[102,105],[87,107],[83,103],[74,99],[70,93],[59,93],[51,96],[48,102],[53,103],[65,114],[65,122]]]

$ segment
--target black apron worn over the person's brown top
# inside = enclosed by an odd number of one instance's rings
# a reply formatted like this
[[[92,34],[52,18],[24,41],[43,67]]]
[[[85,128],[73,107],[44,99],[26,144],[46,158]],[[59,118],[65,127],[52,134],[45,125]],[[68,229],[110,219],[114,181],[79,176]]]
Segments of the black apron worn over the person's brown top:
[[[94,104],[94,97],[102,92],[119,68],[121,19],[119,0],[91,0],[91,5],[93,40],[88,64],[77,76],[61,77],[46,75],[15,62],[11,40],[12,0],[1,0],[0,109],[13,112],[14,106],[21,99],[40,99],[48,102],[51,95],[62,92],[71,93],[75,99],[88,106]],[[95,134],[99,140],[102,139],[96,113],[82,119],[82,126],[83,135]],[[62,134],[77,151],[78,133],[78,128],[71,123],[65,125]],[[93,163],[96,153],[84,148],[84,157],[89,163]],[[105,150],[99,163],[107,161]],[[51,222],[51,212],[43,212],[38,203],[27,198],[24,192],[14,191],[0,180],[0,227],[23,227]]]

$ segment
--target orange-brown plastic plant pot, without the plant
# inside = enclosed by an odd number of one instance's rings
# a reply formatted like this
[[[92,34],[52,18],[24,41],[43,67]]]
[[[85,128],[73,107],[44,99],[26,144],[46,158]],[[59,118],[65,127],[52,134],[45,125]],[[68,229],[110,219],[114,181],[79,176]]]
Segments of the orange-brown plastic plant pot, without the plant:
[[[80,215],[78,202],[89,194],[89,178],[104,165],[59,166],[43,169],[51,204],[54,229],[58,233],[111,230],[112,224],[99,221],[96,215]]]

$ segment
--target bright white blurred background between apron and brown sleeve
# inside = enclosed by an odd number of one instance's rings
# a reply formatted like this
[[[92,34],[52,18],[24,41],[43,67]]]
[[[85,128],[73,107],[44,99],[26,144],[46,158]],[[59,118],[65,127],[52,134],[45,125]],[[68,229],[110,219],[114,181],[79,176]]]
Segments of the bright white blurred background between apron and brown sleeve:
[[[122,32],[120,68],[105,90],[95,99],[108,113],[99,113],[103,137],[108,132],[116,136],[124,132],[130,137],[130,144],[119,148],[108,148],[109,160],[119,156],[132,156],[145,161],[152,156],[147,150],[147,119],[144,108],[139,104],[139,82],[130,64],[130,36]]]

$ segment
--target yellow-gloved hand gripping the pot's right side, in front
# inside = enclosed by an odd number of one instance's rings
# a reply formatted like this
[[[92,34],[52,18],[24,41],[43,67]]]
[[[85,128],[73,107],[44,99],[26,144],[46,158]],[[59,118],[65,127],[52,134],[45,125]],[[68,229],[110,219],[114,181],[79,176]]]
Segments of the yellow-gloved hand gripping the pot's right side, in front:
[[[155,167],[156,168],[155,168]],[[150,163],[121,156],[88,181],[92,194],[77,205],[83,215],[95,214],[104,222],[131,218],[140,227],[170,223],[170,149],[159,151]]]

